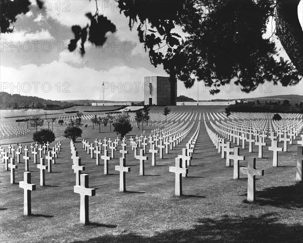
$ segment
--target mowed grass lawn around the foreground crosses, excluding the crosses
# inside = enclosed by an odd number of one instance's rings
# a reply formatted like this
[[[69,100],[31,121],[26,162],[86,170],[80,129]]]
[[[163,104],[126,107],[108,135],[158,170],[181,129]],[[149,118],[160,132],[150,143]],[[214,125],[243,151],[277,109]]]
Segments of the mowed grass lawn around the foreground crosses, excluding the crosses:
[[[292,155],[296,145],[279,153],[278,168],[272,168],[272,152],[268,146],[264,148],[265,158],[257,158],[257,168],[264,169],[265,175],[257,177],[257,201],[249,204],[245,201],[247,177],[232,179],[233,167],[225,166],[225,159],[217,153],[201,121],[188,177],[182,179],[184,195],[174,196],[175,174],[168,171],[169,166],[175,165],[174,158],[181,154],[196,126],[197,122],[182,143],[164,154],[164,159],[159,159],[158,154],[156,167],[150,166],[151,156],[147,153],[145,176],[139,176],[139,162],[128,142],[126,164],[131,172],[126,174],[126,193],[119,192],[119,174],[114,171],[119,164],[119,152],[109,163],[110,175],[104,175],[104,167],[95,165],[95,159],[86,154],[78,139],[75,145],[85,166],[84,173],[89,174],[89,187],[96,188],[96,195],[89,197],[89,226],[79,221],[80,195],[73,192],[75,174],[69,140],[58,138],[62,151],[53,165],[54,172],[45,174],[45,187],[39,185],[39,171],[30,161],[32,183],[37,185],[32,192],[30,217],[23,216],[23,189],[18,185],[23,181],[24,160],[18,165],[14,185],[10,184],[10,172],[2,169],[0,241],[302,242],[303,187],[295,182],[296,161]],[[117,137],[113,132],[100,134],[91,127],[83,130],[83,137],[90,142]],[[148,135],[150,128],[145,131]],[[141,132],[134,129],[128,135],[136,134]],[[266,142],[269,144],[269,140]],[[240,148],[240,154],[246,159],[258,157],[257,148],[254,146],[250,154],[248,149]],[[240,166],[247,166],[247,160]]]

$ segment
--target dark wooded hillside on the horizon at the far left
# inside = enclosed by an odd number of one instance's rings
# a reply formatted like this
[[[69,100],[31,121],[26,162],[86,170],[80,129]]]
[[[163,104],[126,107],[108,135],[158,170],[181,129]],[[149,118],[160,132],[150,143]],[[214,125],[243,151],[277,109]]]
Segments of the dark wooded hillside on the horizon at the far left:
[[[24,96],[19,94],[9,94],[7,92],[0,92],[0,107],[1,108],[20,108],[20,107],[36,107],[40,105],[69,105],[69,102],[61,102],[58,100],[45,100],[36,96]],[[42,107],[38,107],[42,108]]]

